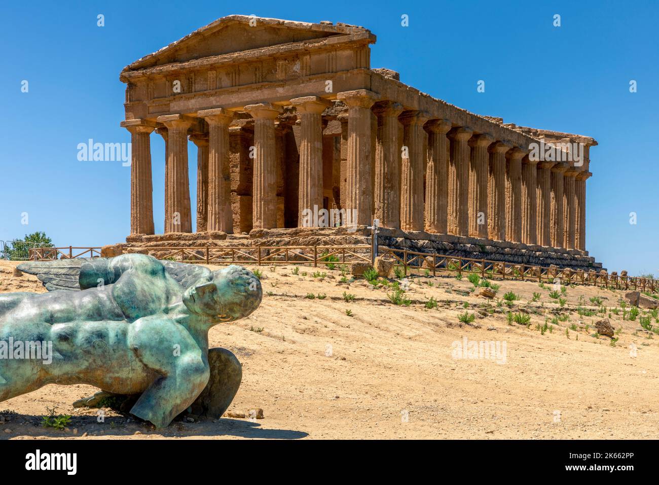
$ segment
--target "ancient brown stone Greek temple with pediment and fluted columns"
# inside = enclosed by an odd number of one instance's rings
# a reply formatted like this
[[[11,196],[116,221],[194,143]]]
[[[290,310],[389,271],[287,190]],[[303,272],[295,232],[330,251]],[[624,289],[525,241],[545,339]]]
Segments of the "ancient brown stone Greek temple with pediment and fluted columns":
[[[151,136],[165,141],[165,232],[336,224],[585,249],[590,137],[476,115],[372,69],[376,36],[232,15],[121,72],[131,234],[154,234]],[[476,88],[474,81],[474,89]],[[154,135],[156,136],[156,135]]]

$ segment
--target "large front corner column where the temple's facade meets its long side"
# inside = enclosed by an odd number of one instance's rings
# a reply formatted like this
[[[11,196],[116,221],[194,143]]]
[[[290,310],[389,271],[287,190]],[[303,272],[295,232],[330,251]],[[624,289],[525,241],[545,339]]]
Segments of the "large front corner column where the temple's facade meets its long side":
[[[371,110],[378,94],[366,89],[339,92],[348,106],[348,156],[345,210],[348,225],[370,224],[371,206]]]

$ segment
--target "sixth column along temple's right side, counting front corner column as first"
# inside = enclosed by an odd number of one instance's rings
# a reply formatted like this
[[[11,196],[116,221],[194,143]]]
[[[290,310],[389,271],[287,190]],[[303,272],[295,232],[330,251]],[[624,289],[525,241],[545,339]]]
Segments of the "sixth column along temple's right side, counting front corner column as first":
[[[492,142],[494,138],[490,135],[474,135],[469,139],[469,236],[473,238],[488,237],[488,146]]]

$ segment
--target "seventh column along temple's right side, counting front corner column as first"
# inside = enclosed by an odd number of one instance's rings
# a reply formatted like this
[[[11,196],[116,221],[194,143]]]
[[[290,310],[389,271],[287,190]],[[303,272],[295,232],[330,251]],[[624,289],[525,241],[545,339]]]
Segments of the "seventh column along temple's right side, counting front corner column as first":
[[[488,238],[505,241],[505,152],[511,145],[498,141],[488,148]]]

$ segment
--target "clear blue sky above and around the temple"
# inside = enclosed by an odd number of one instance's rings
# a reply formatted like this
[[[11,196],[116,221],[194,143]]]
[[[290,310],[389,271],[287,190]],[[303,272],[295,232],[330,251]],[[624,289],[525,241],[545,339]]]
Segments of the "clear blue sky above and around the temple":
[[[594,137],[587,249],[610,270],[659,273],[659,7],[653,1],[33,1],[0,7],[0,240],[45,231],[57,245],[121,242],[130,168],[80,162],[78,143],[127,143],[119,72],[231,14],[369,28],[372,67],[475,113]],[[377,6],[376,6],[377,5]],[[105,26],[96,25],[98,14]],[[401,15],[409,26],[401,26]],[[561,15],[561,26],[552,25]],[[486,92],[476,92],[478,80]],[[29,92],[20,90],[29,82]],[[629,81],[638,92],[629,92]],[[163,228],[163,142],[152,135]],[[196,149],[190,143],[190,191]],[[27,226],[21,213],[28,212]],[[637,224],[629,224],[636,212]],[[193,222],[194,226],[194,222]]]

